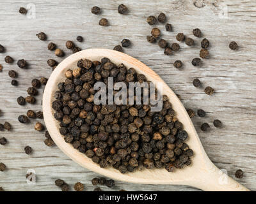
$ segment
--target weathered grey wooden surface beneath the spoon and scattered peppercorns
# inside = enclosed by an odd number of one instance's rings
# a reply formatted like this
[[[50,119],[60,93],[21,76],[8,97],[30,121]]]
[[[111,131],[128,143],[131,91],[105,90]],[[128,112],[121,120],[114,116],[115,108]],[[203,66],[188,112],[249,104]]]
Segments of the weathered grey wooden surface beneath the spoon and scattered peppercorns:
[[[120,15],[117,6],[124,3],[129,8],[127,15]],[[20,6],[35,6],[35,18],[31,14],[24,16],[18,13]],[[92,6],[102,8],[101,15],[93,15]],[[81,168],[65,156],[58,147],[44,145],[44,133],[33,130],[36,120],[31,124],[20,124],[17,117],[28,109],[41,110],[42,88],[37,96],[36,105],[17,105],[19,96],[26,96],[26,89],[33,78],[49,77],[51,68],[47,59],[55,57],[47,50],[47,43],[53,41],[65,50],[65,41],[74,40],[76,36],[84,37],[84,42],[76,44],[83,48],[113,48],[123,38],[132,41],[126,54],[136,57],[154,69],[177,94],[180,94],[186,108],[207,112],[204,119],[194,117],[193,123],[200,140],[210,159],[221,169],[227,170],[234,178],[234,173],[241,168],[244,178],[239,182],[249,189],[256,190],[256,2],[255,1],[0,1],[0,44],[6,47],[6,53],[0,54],[0,123],[8,121],[13,129],[0,132],[8,139],[8,144],[0,145],[0,162],[7,170],[0,172],[0,187],[6,191],[60,191],[54,185],[55,179],[63,179],[70,186],[77,181],[92,191],[90,180],[99,176],[92,171]],[[166,13],[168,22],[173,25],[173,32],[164,31],[163,24],[157,27],[163,31],[163,38],[170,43],[176,41],[177,33],[193,37],[195,47],[180,43],[180,51],[172,56],[163,54],[157,45],[150,45],[146,37],[152,26],[148,25],[148,15]],[[108,27],[100,27],[100,18],[109,20]],[[211,42],[211,59],[204,60],[200,68],[191,65],[191,59],[198,56],[200,40],[191,34],[196,27],[202,30],[204,37]],[[47,41],[39,41],[35,34],[44,31]],[[239,50],[228,48],[230,41],[237,41]],[[15,62],[6,64],[5,55],[11,55]],[[26,59],[28,69],[17,67],[18,59]],[[184,68],[177,70],[172,64],[180,59]],[[14,69],[19,73],[18,87],[10,85],[8,71]],[[204,87],[211,85],[216,93],[213,96],[204,94],[204,89],[196,89],[191,84],[198,77]],[[223,128],[212,125],[214,119],[223,122]],[[47,120],[47,119],[46,119]],[[211,131],[203,133],[200,124],[209,122]],[[30,145],[33,154],[24,153],[24,147]],[[36,171],[36,185],[26,183],[26,171]],[[102,189],[107,190],[106,187]],[[139,185],[116,182],[113,189],[128,191],[195,191],[186,186]]]

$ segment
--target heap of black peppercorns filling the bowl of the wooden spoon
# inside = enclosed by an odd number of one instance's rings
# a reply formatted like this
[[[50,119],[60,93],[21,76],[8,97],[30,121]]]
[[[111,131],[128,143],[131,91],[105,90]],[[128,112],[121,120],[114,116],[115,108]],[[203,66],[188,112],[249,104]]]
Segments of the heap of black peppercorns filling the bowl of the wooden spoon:
[[[149,105],[95,105],[95,82],[148,82],[145,75],[113,64],[81,59],[68,69],[65,82],[58,84],[52,108],[60,121],[60,133],[101,168],[113,166],[121,173],[145,168],[173,171],[191,164],[193,150],[184,141],[188,133],[175,117],[172,103],[163,96],[161,112]],[[142,100],[142,99],[141,99]]]

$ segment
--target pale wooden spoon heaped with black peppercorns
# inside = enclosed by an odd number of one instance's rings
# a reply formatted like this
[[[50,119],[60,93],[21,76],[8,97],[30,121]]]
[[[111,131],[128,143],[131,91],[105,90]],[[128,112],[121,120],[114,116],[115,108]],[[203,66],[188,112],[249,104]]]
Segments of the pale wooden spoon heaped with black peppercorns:
[[[98,164],[92,162],[92,159],[86,157],[85,154],[74,149],[70,143],[64,141],[63,136],[61,136],[59,132],[60,126],[58,121],[54,119],[54,110],[51,108],[52,101],[54,101],[54,92],[57,91],[57,85],[65,80],[65,71],[67,71],[67,69],[77,67],[77,61],[79,59],[87,58],[91,61],[100,61],[102,57],[108,57],[115,64],[123,63],[127,68],[136,69],[138,73],[144,74],[147,79],[154,84],[159,82],[163,84],[163,94],[169,97],[173,109],[177,114],[177,118],[182,122],[184,129],[188,132],[189,137],[186,143],[193,149],[195,154],[195,156],[191,158],[191,166],[186,166],[181,170],[175,170],[172,173],[165,169],[144,169],[122,174],[114,168],[100,168]],[[148,66],[122,52],[107,49],[89,49],[67,57],[67,59],[63,60],[56,69],[54,69],[45,86],[43,111],[45,125],[56,145],[76,163],[106,177],[136,184],[188,185],[204,191],[249,191],[246,187],[228,177],[210,161],[209,157],[205,154],[188,113],[172,89],[164,83],[159,75],[148,68]]]

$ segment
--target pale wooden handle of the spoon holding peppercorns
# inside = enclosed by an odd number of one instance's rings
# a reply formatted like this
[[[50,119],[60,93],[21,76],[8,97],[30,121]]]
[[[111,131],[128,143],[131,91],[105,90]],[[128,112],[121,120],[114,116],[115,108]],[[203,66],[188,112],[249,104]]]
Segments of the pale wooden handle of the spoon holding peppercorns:
[[[222,170],[212,164],[211,169],[200,173],[193,186],[204,191],[250,191],[236,180],[228,177]]]

